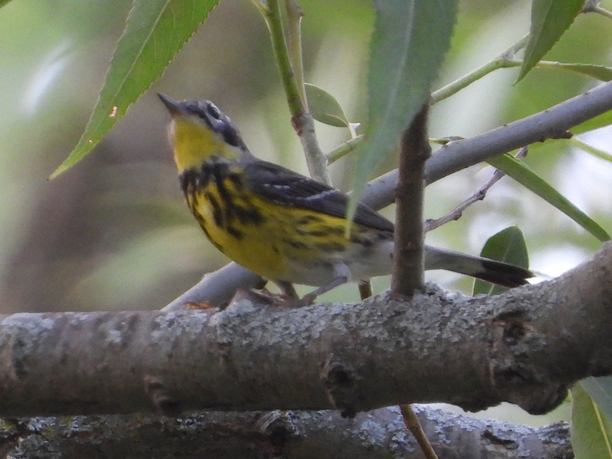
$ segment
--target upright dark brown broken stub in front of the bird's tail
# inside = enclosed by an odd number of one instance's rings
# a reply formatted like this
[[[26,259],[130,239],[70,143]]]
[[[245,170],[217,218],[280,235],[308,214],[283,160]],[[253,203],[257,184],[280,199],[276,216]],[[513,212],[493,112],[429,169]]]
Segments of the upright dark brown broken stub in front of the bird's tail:
[[[423,195],[425,162],[431,155],[427,137],[426,103],[401,138],[400,167],[395,188],[395,252],[391,292],[412,297],[425,284],[423,262]]]

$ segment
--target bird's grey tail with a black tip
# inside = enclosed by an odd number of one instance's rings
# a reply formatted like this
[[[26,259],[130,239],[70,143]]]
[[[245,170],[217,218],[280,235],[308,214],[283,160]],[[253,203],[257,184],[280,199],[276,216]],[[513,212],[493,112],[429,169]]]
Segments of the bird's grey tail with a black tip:
[[[514,264],[430,246],[425,251],[425,269],[447,269],[510,288],[535,277],[529,269]]]

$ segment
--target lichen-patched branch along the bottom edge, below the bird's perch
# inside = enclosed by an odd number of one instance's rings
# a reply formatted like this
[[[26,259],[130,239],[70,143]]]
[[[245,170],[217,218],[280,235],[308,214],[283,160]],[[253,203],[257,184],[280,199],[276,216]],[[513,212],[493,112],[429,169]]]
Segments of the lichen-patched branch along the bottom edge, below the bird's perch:
[[[532,428],[416,406],[441,458],[573,458],[566,424]],[[397,408],[335,411],[206,412],[160,416],[1,419],[2,457],[181,457],[234,459],[422,458]]]

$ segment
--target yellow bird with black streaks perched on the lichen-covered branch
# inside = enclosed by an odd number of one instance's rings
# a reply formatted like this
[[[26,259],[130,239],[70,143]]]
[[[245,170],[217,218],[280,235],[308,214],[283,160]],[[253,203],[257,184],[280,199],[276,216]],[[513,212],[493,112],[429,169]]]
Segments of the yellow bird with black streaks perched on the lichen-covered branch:
[[[347,239],[345,193],[257,159],[214,103],[159,97],[170,111],[168,134],[187,204],[221,252],[289,296],[292,283],[318,287],[304,303],[343,283],[390,274],[393,223],[360,204]],[[430,246],[425,269],[508,287],[533,277],[522,267]]]

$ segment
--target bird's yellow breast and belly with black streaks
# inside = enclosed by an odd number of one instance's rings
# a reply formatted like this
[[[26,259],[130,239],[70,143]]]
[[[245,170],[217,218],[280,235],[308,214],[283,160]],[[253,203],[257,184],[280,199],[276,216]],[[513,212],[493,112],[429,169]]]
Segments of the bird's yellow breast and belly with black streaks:
[[[265,201],[228,178],[185,194],[215,247],[267,279],[318,285],[350,245],[343,219]]]

